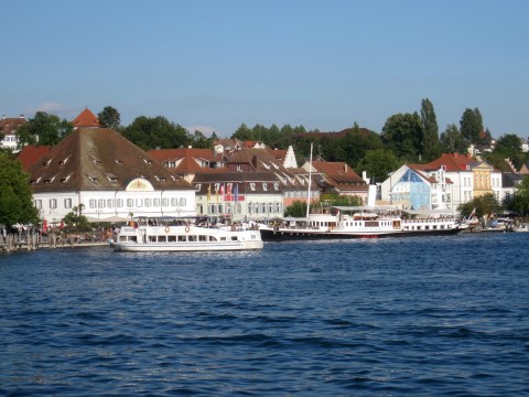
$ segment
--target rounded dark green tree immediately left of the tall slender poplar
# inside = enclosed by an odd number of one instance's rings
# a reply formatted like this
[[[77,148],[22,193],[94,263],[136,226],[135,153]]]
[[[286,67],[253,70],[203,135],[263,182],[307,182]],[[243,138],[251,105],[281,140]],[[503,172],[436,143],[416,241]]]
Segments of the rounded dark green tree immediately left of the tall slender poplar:
[[[382,128],[382,142],[402,161],[417,161],[421,153],[422,124],[417,111],[389,117]]]

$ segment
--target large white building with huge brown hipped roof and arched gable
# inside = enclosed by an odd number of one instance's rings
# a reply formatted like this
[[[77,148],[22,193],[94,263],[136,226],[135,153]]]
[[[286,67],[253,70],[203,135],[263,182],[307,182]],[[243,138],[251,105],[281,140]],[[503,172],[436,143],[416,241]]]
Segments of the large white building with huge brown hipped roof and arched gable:
[[[111,129],[77,128],[28,171],[35,205],[51,224],[80,205],[90,222],[196,213],[188,182]]]

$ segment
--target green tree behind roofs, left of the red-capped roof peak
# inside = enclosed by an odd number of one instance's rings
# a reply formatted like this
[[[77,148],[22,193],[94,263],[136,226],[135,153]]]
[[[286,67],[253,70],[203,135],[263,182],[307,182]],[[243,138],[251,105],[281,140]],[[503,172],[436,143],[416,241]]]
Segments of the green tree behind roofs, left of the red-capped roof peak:
[[[33,118],[20,127],[18,148],[21,149],[25,144],[54,146],[73,130],[74,126],[66,119],[37,111]]]

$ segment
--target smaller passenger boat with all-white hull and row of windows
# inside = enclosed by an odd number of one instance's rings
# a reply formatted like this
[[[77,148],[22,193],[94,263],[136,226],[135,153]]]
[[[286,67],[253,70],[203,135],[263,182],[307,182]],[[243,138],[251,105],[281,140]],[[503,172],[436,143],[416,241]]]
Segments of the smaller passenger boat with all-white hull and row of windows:
[[[225,251],[263,246],[258,228],[171,217],[134,218],[108,243],[116,251]]]

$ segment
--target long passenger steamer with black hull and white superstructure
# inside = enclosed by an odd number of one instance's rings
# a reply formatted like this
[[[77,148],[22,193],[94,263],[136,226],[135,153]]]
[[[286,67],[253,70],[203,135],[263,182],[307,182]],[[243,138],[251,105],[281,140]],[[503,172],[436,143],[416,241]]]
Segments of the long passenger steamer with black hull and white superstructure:
[[[307,218],[291,217],[260,225],[261,237],[287,240],[435,236],[457,234],[467,227],[454,216],[442,214],[409,213],[403,218],[395,208],[336,206],[332,212],[334,215],[311,214]]]

